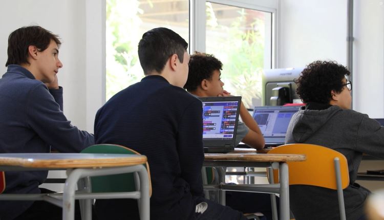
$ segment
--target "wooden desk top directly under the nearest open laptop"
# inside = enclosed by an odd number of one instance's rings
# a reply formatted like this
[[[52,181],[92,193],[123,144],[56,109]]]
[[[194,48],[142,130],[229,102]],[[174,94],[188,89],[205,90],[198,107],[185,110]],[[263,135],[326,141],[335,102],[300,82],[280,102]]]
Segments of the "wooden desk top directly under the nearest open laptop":
[[[275,155],[266,153],[206,153],[205,161],[287,162],[305,161],[305,155]]]

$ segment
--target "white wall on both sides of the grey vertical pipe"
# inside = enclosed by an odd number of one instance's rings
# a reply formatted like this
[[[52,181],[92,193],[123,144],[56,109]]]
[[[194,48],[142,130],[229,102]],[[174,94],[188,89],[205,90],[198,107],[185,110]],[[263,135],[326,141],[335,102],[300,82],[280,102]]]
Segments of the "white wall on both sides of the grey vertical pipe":
[[[353,109],[384,118],[384,7],[354,1]],[[347,0],[280,0],[277,67],[317,60],[347,64]]]

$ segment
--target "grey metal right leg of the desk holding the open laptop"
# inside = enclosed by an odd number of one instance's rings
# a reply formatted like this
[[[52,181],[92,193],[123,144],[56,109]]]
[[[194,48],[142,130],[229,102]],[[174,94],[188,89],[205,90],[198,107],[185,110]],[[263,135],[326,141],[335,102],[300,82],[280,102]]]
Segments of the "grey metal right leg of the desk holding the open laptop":
[[[288,164],[280,163],[280,218],[289,220],[289,180]]]

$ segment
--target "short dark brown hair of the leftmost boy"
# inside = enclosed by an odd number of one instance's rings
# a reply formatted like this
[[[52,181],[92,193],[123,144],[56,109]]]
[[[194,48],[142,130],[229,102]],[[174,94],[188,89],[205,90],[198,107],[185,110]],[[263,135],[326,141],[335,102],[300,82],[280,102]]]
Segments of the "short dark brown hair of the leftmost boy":
[[[13,31],[8,37],[8,60],[5,66],[30,64],[28,62],[29,46],[36,46],[38,51],[44,51],[48,48],[51,40],[54,40],[58,47],[61,45],[58,35],[40,26],[27,26]]]

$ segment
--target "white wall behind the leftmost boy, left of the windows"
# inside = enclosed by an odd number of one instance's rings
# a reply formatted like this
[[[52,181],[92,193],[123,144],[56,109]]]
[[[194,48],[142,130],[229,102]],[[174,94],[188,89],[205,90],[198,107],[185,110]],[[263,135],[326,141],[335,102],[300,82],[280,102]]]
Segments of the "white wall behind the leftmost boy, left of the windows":
[[[6,71],[8,36],[12,31],[39,25],[60,35],[59,58],[63,68],[58,79],[64,88],[64,113],[73,125],[93,133],[95,113],[103,97],[101,66],[105,62],[102,61],[105,34],[101,30],[105,26],[105,18],[102,20],[105,1],[3,0],[1,5],[0,76]]]

